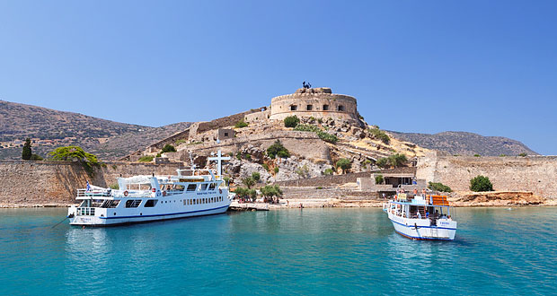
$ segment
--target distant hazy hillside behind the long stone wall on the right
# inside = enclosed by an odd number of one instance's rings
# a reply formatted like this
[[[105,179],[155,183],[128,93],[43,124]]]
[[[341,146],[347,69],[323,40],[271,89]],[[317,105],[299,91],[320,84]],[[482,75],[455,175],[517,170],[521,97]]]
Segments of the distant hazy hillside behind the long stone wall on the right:
[[[525,144],[502,136],[483,136],[467,132],[443,132],[435,135],[389,132],[393,136],[420,147],[459,155],[480,154],[485,156],[537,155]]]

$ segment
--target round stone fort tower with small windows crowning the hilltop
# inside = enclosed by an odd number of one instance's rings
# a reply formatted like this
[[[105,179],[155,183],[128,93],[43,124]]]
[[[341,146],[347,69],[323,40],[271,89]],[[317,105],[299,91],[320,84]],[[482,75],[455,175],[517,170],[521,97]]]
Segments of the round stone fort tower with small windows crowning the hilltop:
[[[293,115],[360,122],[356,98],[332,93],[328,87],[303,88],[270,100],[270,119],[282,120]]]

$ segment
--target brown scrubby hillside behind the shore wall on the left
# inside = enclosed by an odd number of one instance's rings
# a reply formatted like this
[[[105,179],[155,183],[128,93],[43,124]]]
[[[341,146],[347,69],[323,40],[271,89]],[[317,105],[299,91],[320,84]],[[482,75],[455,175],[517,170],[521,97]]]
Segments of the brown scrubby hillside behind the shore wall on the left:
[[[79,113],[0,100],[0,159],[19,159],[22,141],[32,140],[34,153],[45,156],[58,146],[76,144],[102,159],[117,159],[190,126],[129,125]]]

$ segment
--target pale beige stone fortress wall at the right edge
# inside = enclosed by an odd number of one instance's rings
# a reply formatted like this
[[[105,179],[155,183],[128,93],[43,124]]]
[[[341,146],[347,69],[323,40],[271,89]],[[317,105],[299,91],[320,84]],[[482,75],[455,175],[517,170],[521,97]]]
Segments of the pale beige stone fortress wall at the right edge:
[[[490,178],[495,190],[532,191],[557,198],[557,156],[450,156],[432,152],[418,161],[417,178],[469,191],[470,179]]]

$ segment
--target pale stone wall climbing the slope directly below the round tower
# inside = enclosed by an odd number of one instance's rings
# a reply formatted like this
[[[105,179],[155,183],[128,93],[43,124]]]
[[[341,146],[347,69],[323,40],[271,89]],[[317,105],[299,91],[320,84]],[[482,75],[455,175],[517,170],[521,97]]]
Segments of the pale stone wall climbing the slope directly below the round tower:
[[[166,155],[172,161],[189,162],[189,150],[203,156],[207,156],[210,152],[217,152],[218,149],[221,149],[224,154],[234,154],[243,145],[247,144],[260,146],[266,150],[277,140],[293,154],[304,156],[310,160],[331,162],[329,146],[323,140],[315,135],[315,133],[296,131],[271,131],[263,135],[240,136],[223,140],[220,144],[214,142],[194,145],[182,144],[178,149],[179,152],[166,153]]]

